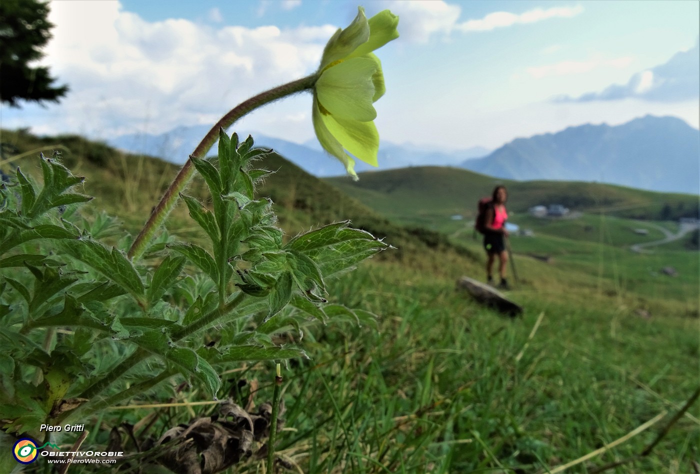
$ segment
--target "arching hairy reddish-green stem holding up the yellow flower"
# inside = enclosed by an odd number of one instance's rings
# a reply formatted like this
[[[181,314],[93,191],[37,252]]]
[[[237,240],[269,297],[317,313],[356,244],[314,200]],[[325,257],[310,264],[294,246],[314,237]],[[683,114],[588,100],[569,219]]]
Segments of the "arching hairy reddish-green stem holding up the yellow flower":
[[[316,84],[316,79],[318,79],[318,73],[314,73],[311,74],[311,76],[298,79],[297,81],[292,81],[290,83],[283,84],[282,86],[266,90],[264,93],[260,93],[255,95],[255,97],[251,97],[245,102],[241,102],[241,104],[237,105],[234,109],[231,109],[228,114],[221,117],[221,120],[219,120],[216,125],[209,130],[209,133],[204,135],[202,142],[200,142],[200,144],[197,145],[197,148],[195,148],[195,151],[192,152],[192,156],[204,158],[209,149],[211,149],[216,140],[218,140],[218,134],[221,128],[226,130],[239,118],[245,116],[258,107],[262,107],[265,104],[269,104],[270,102],[274,102],[275,100],[279,100],[288,95],[300,93],[304,90],[310,90],[314,87],[314,84]],[[144,255],[146,246],[149,242],[151,242],[151,239],[158,229],[160,229],[163,222],[165,222],[165,219],[169,215],[170,211],[172,211],[172,209],[175,207],[181,191],[183,191],[183,189],[185,189],[185,187],[188,185],[194,172],[195,169],[193,167],[192,160],[188,158],[185,165],[183,165],[182,169],[175,177],[175,180],[173,180],[168,189],[165,191],[163,197],[160,199],[160,203],[158,203],[158,205],[156,205],[153,209],[153,212],[151,212],[151,217],[148,217],[148,221],[146,222],[146,225],[144,225],[144,229],[141,229],[141,233],[139,233],[136,240],[134,240],[134,243],[127,254],[131,259],[136,260],[139,259],[141,255]]]

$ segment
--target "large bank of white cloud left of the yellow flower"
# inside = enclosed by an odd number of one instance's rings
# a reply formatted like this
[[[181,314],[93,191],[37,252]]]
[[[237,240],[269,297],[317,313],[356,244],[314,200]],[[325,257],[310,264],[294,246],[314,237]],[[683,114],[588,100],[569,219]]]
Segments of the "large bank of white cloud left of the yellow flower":
[[[22,113],[37,130],[93,137],[146,123],[149,133],[213,123],[248,97],[310,74],[336,29],[149,22],[118,1],[54,1],[50,9],[55,28],[44,62],[70,90],[60,104]]]

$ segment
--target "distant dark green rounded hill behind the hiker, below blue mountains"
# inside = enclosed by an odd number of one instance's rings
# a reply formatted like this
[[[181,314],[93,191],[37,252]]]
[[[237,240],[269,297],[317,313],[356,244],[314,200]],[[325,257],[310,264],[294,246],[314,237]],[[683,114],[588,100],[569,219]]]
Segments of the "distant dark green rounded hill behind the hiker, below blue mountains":
[[[357,182],[346,177],[327,181],[383,215],[416,224],[432,224],[451,215],[473,217],[479,198],[490,196],[496,184],[508,188],[509,208],[515,212],[558,203],[571,210],[636,219],[673,220],[698,215],[697,197],[687,194],[589,182],[500,180],[460,168],[404,168],[360,173]]]

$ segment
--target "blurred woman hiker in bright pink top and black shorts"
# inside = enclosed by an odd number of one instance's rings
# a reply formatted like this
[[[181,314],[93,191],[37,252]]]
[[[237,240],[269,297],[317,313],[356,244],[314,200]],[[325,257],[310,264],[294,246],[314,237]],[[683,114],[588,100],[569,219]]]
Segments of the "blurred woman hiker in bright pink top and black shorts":
[[[493,189],[491,203],[486,207],[484,217],[484,249],[486,250],[486,278],[489,285],[493,285],[493,261],[498,255],[498,273],[500,275],[499,288],[508,290],[508,282],[505,278],[505,266],[508,261],[508,252],[505,247],[505,238],[508,231],[505,229],[505,221],[508,218],[505,212],[505,201],[508,199],[508,191],[505,186],[497,186]]]

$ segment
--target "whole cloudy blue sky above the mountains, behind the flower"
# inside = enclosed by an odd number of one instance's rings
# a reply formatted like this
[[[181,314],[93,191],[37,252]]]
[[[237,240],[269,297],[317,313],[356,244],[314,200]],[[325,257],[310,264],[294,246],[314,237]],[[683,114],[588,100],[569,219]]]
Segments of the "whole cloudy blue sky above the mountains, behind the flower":
[[[375,53],[381,140],[496,149],[517,137],[647,114],[700,121],[700,2],[54,0],[41,63],[69,94],[2,104],[0,127],[109,140],[214,124],[255,94],[318,67],[365,7],[399,16]],[[229,130],[314,138],[311,95],[253,111]]]

